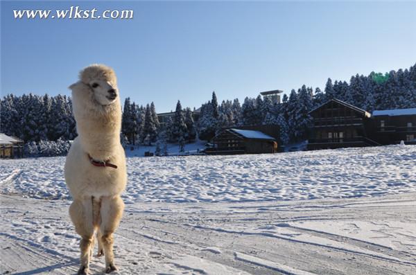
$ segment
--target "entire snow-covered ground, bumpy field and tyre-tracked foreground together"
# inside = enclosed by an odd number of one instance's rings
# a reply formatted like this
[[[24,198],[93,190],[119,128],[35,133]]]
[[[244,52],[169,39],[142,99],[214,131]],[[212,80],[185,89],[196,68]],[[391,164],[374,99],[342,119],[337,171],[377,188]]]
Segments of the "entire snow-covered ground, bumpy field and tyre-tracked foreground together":
[[[78,269],[63,163],[0,160],[0,274]],[[129,157],[128,174],[119,274],[416,274],[416,146]]]

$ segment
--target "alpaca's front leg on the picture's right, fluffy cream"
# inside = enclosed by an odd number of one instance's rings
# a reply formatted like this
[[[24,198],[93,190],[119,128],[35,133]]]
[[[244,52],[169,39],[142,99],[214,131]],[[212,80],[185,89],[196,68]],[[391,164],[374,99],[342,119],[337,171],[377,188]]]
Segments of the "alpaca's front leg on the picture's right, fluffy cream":
[[[121,197],[103,197],[101,201],[101,242],[105,256],[105,272],[117,270],[114,265],[113,233],[119,227],[123,215],[124,203]]]

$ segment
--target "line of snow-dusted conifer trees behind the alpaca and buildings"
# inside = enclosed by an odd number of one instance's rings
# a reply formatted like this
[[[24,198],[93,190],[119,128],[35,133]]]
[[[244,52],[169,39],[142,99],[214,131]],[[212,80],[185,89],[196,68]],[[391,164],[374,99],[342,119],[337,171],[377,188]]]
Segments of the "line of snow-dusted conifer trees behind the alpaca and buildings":
[[[311,125],[309,112],[331,98],[372,112],[374,109],[416,107],[416,64],[409,69],[389,73],[355,75],[349,82],[333,82],[331,78],[322,91],[306,87],[284,94],[281,103],[268,97],[246,97],[223,100],[213,92],[211,100],[202,104],[198,121],[193,111],[182,108],[178,100],[175,114],[160,127],[155,104],[137,105],[126,98],[123,105],[121,141],[124,144],[156,143],[163,150],[166,143],[184,143],[199,139],[209,141],[224,127],[239,125],[279,125],[282,143],[307,139]],[[76,137],[71,97],[8,94],[0,100],[0,132],[24,141],[71,140]]]

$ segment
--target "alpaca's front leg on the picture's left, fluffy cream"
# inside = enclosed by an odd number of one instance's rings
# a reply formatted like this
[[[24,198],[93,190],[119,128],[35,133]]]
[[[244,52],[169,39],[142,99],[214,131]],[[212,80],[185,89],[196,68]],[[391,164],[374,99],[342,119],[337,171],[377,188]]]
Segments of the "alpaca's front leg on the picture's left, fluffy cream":
[[[76,199],[69,206],[69,216],[75,226],[75,231],[81,237],[80,242],[80,269],[78,274],[88,274],[89,255],[94,237],[94,225],[92,223],[91,199]]]

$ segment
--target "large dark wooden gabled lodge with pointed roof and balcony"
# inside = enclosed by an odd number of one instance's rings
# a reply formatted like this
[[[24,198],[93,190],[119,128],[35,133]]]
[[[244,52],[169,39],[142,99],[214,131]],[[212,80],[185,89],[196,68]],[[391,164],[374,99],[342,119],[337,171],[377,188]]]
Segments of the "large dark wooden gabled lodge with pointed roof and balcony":
[[[370,138],[371,114],[338,99],[313,109],[308,150],[378,145]]]

